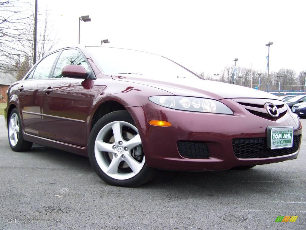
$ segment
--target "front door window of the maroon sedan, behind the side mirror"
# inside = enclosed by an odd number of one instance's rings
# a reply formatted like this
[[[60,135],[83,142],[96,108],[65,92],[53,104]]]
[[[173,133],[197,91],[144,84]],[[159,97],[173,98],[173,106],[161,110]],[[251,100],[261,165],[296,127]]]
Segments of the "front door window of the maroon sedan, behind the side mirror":
[[[89,68],[87,61],[78,50],[66,49],[58,58],[52,78],[63,78],[62,70],[65,65],[82,65],[86,70]]]

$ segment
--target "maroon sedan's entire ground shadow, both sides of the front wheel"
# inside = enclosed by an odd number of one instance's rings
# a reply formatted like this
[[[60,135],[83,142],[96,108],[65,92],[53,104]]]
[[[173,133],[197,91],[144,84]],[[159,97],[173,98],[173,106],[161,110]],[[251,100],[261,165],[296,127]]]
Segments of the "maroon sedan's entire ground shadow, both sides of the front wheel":
[[[89,159],[84,156],[36,144],[26,154],[32,155],[34,159],[47,161],[49,165],[60,168],[71,168],[73,165],[80,173],[95,174]],[[271,170],[269,170],[269,166]],[[241,193],[256,190],[262,194],[269,194],[271,190],[276,193],[280,185],[290,182],[285,179],[285,174],[288,172],[284,171],[283,174],[279,174],[274,164],[269,166],[259,165],[245,171],[179,172],[159,170],[151,182],[140,186],[140,188],[172,191],[179,188],[176,193],[193,190],[194,196],[203,196],[203,193],[213,196],[222,192]],[[102,180],[101,183],[101,185],[108,186]]]

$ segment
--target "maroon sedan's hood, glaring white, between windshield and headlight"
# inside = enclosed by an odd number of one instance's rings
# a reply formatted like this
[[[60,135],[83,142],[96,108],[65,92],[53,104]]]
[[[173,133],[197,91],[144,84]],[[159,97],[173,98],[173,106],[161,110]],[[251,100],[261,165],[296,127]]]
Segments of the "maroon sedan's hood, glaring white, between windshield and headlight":
[[[141,77],[140,77],[141,76]],[[119,81],[135,82],[152,86],[170,92],[177,96],[203,97],[221,100],[224,98],[269,98],[280,100],[277,96],[255,90],[244,86],[238,86],[223,82],[215,82],[204,79],[166,77],[166,80],[154,79],[146,75],[120,74],[112,75],[112,78]]]

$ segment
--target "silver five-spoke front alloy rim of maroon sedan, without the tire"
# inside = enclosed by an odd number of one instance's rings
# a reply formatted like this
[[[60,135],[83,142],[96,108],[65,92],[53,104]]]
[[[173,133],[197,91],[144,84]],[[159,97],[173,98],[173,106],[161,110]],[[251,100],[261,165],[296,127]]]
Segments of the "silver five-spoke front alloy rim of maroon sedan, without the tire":
[[[94,151],[101,170],[118,180],[134,177],[145,163],[138,130],[125,121],[105,125],[95,139]]]

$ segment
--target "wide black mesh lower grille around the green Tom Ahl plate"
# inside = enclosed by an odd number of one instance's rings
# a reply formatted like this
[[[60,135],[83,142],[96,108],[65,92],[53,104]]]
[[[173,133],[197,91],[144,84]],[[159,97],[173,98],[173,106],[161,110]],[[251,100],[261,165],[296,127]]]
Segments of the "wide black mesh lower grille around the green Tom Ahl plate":
[[[267,158],[292,154],[299,149],[301,135],[293,136],[291,148],[268,149],[266,138],[233,139],[232,145],[237,158]]]

